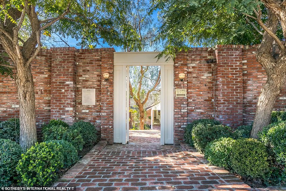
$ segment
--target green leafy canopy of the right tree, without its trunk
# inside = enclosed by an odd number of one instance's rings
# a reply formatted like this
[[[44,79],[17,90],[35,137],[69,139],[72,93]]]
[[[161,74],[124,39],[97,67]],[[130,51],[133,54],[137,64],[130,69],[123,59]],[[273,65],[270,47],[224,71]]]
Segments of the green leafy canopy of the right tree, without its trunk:
[[[158,9],[161,15],[158,39],[164,44],[163,53],[175,56],[175,51],[190,46],[261,43],[263,29],[245,15],[254,16],[257,4],[261,4],[261,18],[265,22],[267,10],[264,4],[251,0],[156,0],[151,12]],[[277,36],[283,40],[281,26]]]

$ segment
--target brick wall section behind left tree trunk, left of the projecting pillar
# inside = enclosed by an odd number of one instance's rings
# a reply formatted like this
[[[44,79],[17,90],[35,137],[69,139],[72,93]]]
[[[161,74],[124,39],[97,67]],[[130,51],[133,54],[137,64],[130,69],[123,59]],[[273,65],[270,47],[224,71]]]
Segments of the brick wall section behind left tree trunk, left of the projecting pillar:
[[[13,62],[6,58],[11,65]],[[32,62],[34,78],[37,134],[40,138],[40,126],[47,123],[51,116],[51,51],[42,49]],[[18,93],[15,79],[0,75],[0,120],[19,118]]]

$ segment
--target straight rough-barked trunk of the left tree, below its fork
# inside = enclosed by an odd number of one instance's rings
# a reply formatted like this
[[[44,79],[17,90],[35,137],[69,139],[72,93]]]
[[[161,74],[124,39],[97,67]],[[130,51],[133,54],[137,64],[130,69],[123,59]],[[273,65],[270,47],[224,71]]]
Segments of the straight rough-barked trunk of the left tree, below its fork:
[[[35,94],[30,65],[22,59],[16,62],[16,86],[20,107],[20,145],[24,150],[37,143]]]

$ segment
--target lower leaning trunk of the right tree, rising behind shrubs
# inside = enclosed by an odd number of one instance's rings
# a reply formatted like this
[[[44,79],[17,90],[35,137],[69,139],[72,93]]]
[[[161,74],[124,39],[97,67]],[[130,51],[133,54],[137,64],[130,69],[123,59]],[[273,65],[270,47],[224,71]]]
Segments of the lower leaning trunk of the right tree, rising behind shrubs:
[[[276,72],[275,75],[268,76],[267,82],[263,85],[254,116],[252,138],[257,138],[257,133],[269,124],[276,98],[285,84],[285,78],[285,72]]]

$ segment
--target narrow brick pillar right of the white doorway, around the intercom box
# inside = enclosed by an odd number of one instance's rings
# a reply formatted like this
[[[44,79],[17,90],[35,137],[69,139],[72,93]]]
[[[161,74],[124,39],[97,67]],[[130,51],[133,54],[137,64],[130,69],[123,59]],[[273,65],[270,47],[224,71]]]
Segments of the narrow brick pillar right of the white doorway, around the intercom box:
[[[174,87],[175,89],[188,88],[187,52],[180,52],[174,60]],[[185,73],[184,81],[179,79],[179,73]],[[184,131],[187,125],[187,97],[175,97],[174,95],[174,145],[184,140]]]

